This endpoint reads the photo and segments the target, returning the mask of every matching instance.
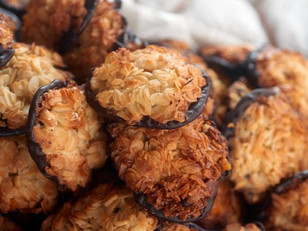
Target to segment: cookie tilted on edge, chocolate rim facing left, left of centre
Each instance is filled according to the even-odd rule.
[[[56,80],[33,98],[26,128],[30,155],[61,188],[85,187],[92,169],[107,159],[101,123],[82,87]]]

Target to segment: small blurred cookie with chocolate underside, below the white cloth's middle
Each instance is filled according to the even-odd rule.
[[[245,74],[246,56],[253,49],[252,45],[215,45],[201,48],[200,54],[211,68],[222,69],[231,79],[237,80]]]

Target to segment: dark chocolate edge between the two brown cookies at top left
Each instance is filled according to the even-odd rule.
[[[60,54],[64,54],[70,47],[73,45],[74,42],[78,39],[78,36],[84,31],[86,26],[91,21],[91,18],[95,12],[99,4],[99,0],[86,0],[85,1],[85,8],[87,9],[87,15],[85,16],[78,32],[73,32],[71,29],[64,33],[60,38],[59,44],[57,45],[57,51]]]

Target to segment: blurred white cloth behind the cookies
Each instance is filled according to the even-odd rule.
[[[123,0],[128,27],[149,41],[182,40],[193,48],[264,44],[308,57],[307,0]]]

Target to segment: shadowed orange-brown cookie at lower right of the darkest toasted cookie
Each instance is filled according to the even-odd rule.
[[[241,221],[242,203],[229,180],[223,180],[209,214],[198,224],[207,229],[220,229],[227,224]]]

